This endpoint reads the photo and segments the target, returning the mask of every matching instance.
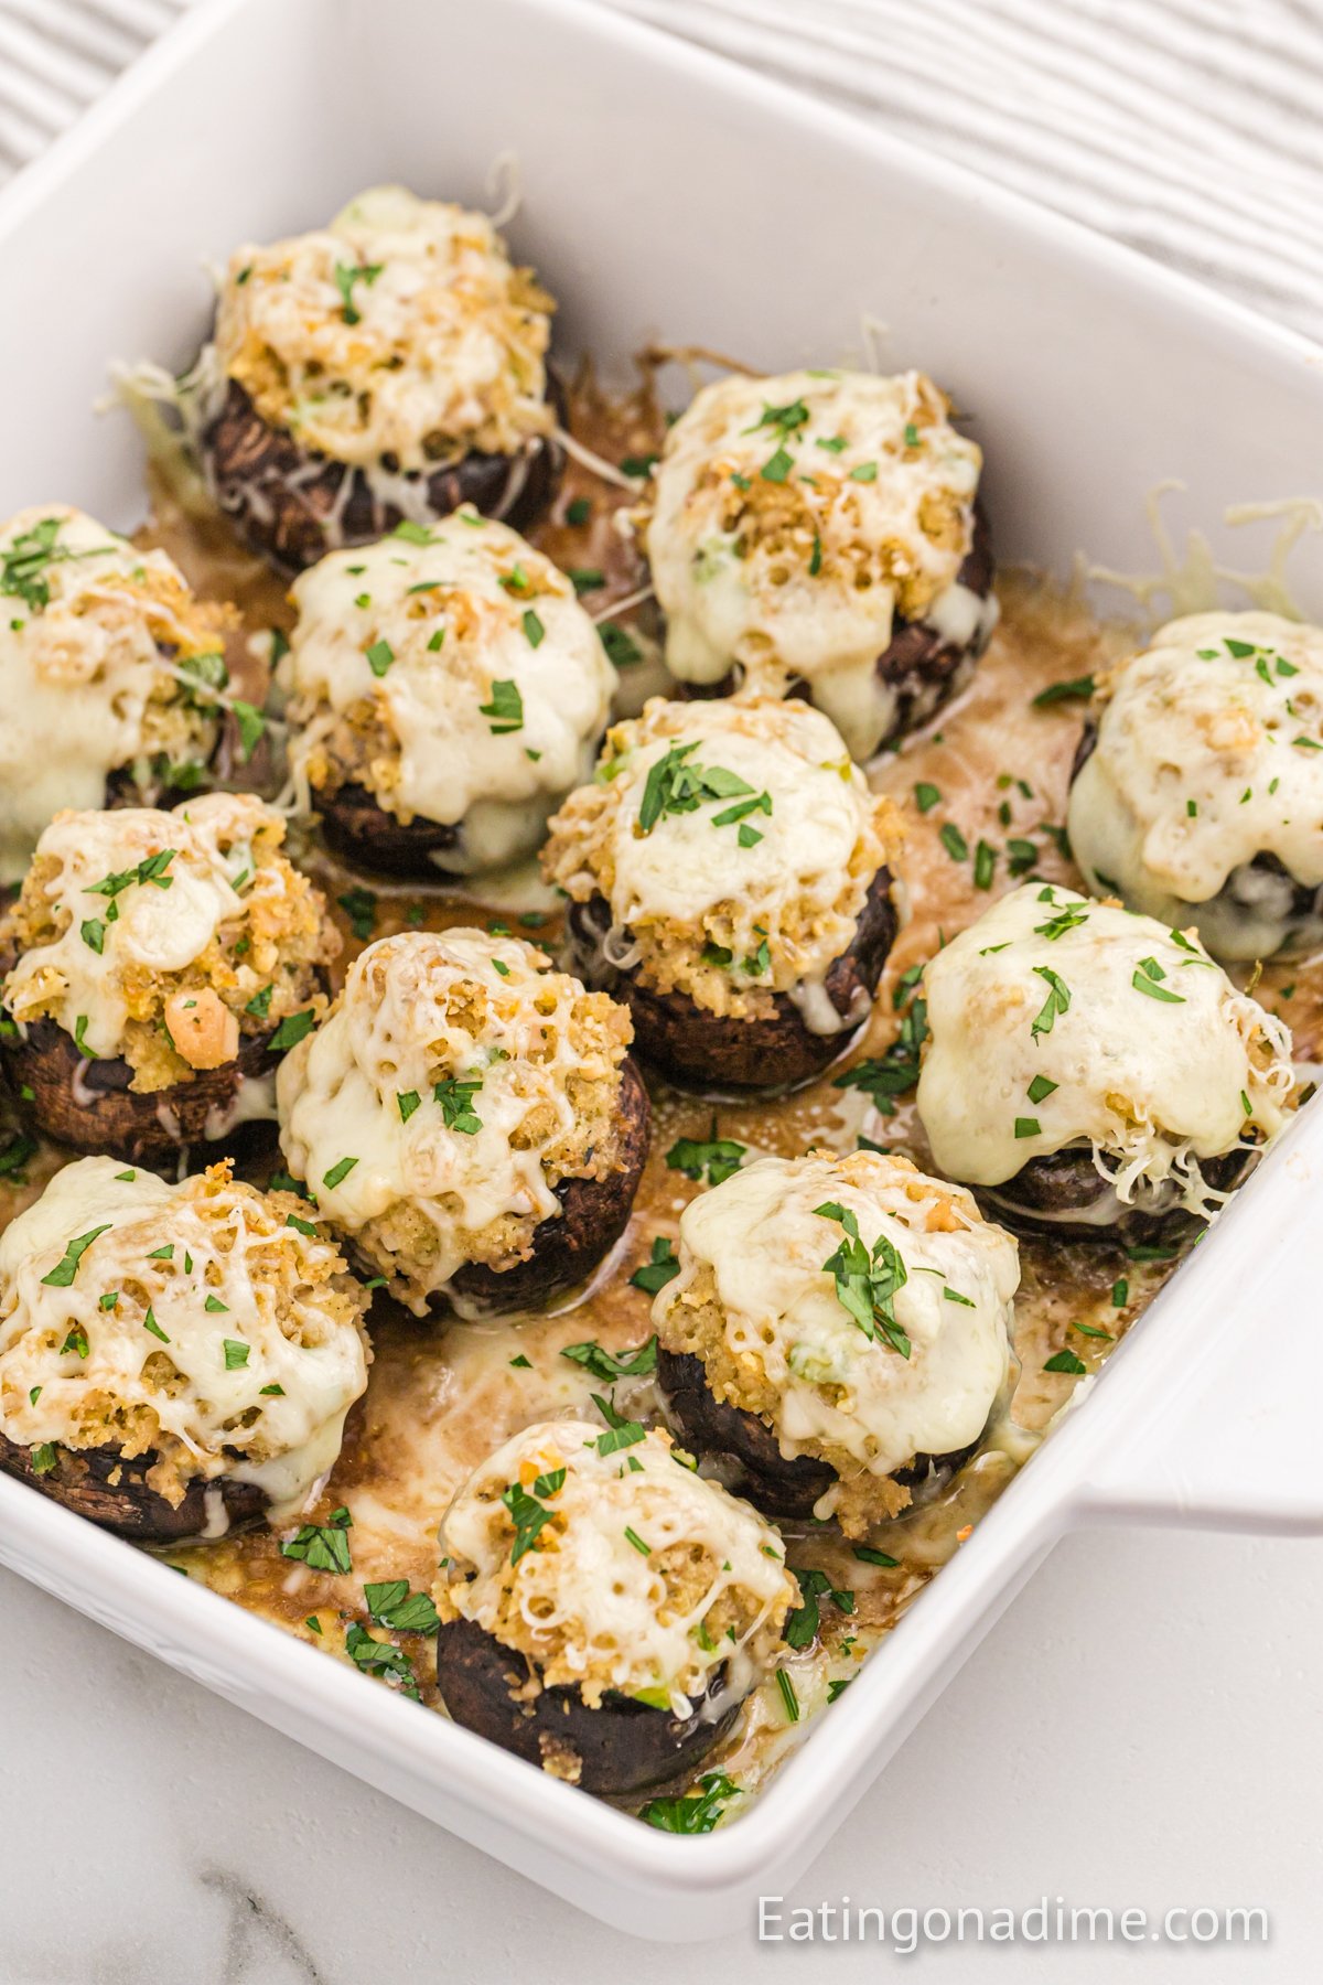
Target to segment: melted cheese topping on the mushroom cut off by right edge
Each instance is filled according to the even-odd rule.
[[[1192,921],[1218,957],[1317,945],[1285,877],[1238,871],[1269,854],[1323,883],[1323,629],[1192,613],[1111,669],[1099,705],[1067,816],[1089,885]]]

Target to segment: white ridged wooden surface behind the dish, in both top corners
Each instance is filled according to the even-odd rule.
[[[0,179],[188,4],[0,0]],[[605,4],[815,89],[1323,339],[1323,0]]]

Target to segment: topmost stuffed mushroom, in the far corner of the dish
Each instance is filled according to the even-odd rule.
[[[534,522],[563,468],[551,310],[486,214],[403,187],[236,248],[180,389],[216,502],[286,570],[460,502]]]

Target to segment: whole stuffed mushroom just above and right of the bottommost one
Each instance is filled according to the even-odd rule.
[[[904,1157],[764,1157],[680,1215],[657,1380],[684,1447],[774,1517],[847,1536],[978,1445],[1010,1368],[1018,1249]]]

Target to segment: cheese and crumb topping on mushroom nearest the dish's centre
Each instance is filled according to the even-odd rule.
[[[649,780],[657,786],[676,750],[714,796],[666,808],[643,832]],[[647,981],[716,1012],[738,1010],[746,989],[789,992],[809,1028],[837,1032],[859,1014],[841,1016],[823,979],[897,848],[895,810],[807,703],[659,699],[611,730],[595,784],[553,822],[543,863],[577,901],[609,903],[607,951],[633,955]],[[728,963],[714,965],[712,947]]]

